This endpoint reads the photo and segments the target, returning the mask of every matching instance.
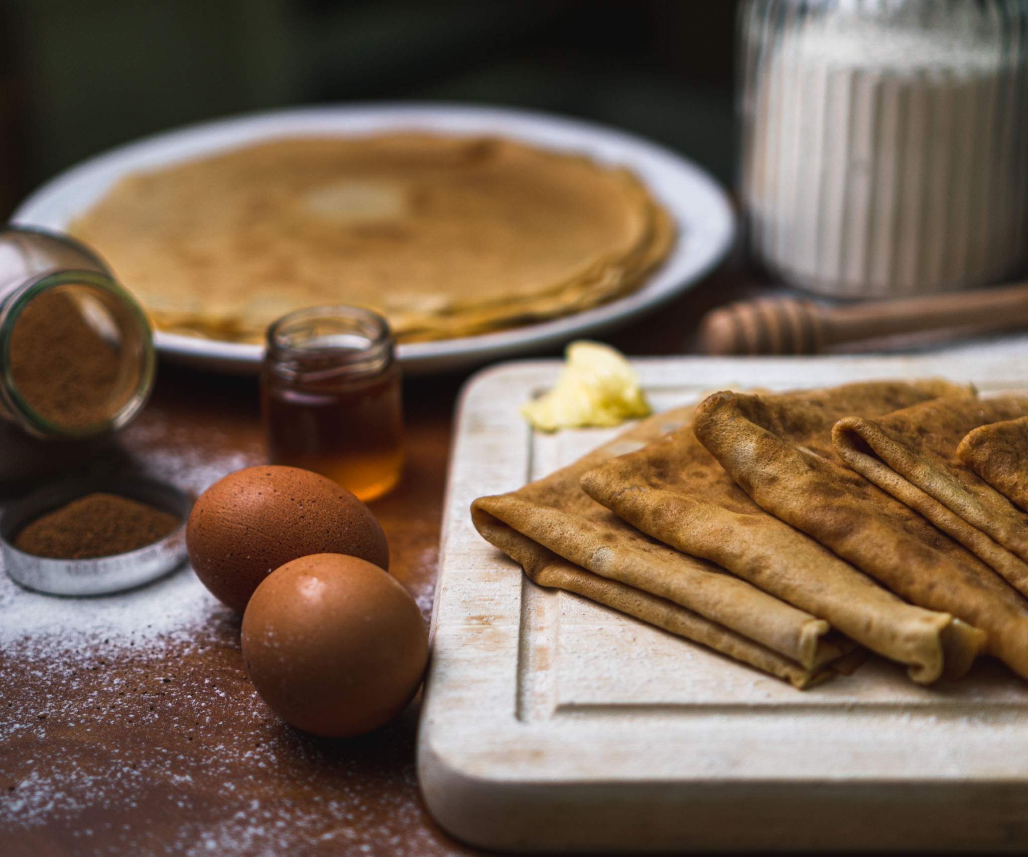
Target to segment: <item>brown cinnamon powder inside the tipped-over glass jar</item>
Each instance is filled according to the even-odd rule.
[[[10,344],[10,372],[22,397],[43,419],[68,428],[104,423],[115,398],[121,357],[60,291],[34,298],[21,313]]]

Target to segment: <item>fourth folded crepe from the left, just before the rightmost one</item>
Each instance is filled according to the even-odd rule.
[[[1028,514],[957,456],[967,432],[1028,416],[1028,398],[923,402],[877,419],[836,424],[836,450],[850,467],[920,512],[1028,595]]]

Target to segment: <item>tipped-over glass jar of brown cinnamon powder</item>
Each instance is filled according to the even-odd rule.
[[[115,431],[143,407],[155,357],[146,315],[87,247],[0,229],[0,414],[47,440]]]

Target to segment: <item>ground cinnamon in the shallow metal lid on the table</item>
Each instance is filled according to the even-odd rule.
[[[148,503],[98,492],[36,519],[17,534],[14,546],[51,560],[91,560],[138,550],[181,524]]]

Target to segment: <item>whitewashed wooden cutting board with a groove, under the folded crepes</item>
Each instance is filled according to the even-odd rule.
[[[667,358],[656,408],[717,389],[942,376],[1028,394],[1028,359]],[[699,645],[528,581],[469,506],[617,430],[531,431],[518,405],[556,361],[469,382],[453,444],[418,739],[451,833],[540,850],[1028,847],[1028,685],[991,659],[931,688],[872,658],[798,691]]]

